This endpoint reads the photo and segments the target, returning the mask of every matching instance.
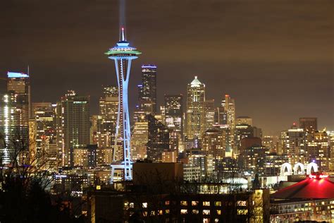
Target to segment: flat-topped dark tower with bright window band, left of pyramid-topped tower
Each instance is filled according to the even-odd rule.
[[[183,95],[165,95],[165,125],[183,135]]]

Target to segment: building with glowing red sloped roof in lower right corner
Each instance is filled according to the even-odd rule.
[[[307,179],[271,194],[271,222],[333,220],[334,182],[326,174],[310,174]]]

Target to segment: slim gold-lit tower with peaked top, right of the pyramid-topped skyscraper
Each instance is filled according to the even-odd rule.
[[[221,106],[224,108],[227,117],[226,125],[230,129],[230,148],[232,149],[233,156],[237,155],[237,147],[235,146],[235,100],[230,95],[225,95],[224,100],[221,102]]]

